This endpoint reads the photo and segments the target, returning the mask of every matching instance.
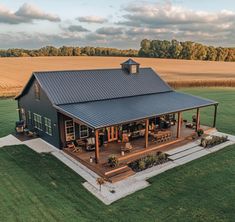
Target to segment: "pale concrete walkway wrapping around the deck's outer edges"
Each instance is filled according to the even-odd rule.
[[[218,136],[227,135],[220,132],[212,132],[211,134]],[[83,186],[88,191],[90,191],[93,195],[100,199],[104,204],[109,205],[119,200],[120,198],[123,198],[129,194],[150,186],[147,179],[153,176],[156,176],[179,165],[188,163],[192,160],[198,159],[202,156],[208,155],[212,152],[216,152],[229,145],[235,144],[235,136],[227,136],[229,138],[228,142],[222,143],[210,149],[203,149],[199,146],[200,141],[195,141],[176,149],[170,150],[167,152],[167,154],[172,157],[173,161],[169,161],[165,164],[154,166],[152,168],[138,172],[133,176],[130,176],[127,179],[114,184],[106,182],[104,185],[102,185],[101,191],[99,190],[99,185],[96,183],[96,179],[99,177],[96,173],[64,153],[62,150],[55,148],[54,146],[48,144],[40,138],[21,142],[14,136],[8,135],[6,137],[0,138],[0,147],[25,144],[35,152],[51,153],[53,156],[55,156],[57,159],[59,159],[61,162],[63,162],[65,165],[79,174],[86,181],[83,183]]]

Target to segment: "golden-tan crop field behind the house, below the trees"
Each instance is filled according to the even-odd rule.
[[[0,58],[0,96],[14,96],[33,71],[116,68],[123,57]],[[174,87],[235,86],[235,63],[136,58]]]

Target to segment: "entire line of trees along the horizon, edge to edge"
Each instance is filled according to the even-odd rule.
[[[206,46],[191,41],[148,40],[140,43],[140,49],[117,49],[106,47],[46,46],[40,49],[0,50],[0,57],[23,56],[128,56],[208,61],[235,61],[235,48]]]

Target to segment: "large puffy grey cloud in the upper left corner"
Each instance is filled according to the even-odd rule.
[[[46,13],[40,8],[25,3],[16,12],[10,11],[4,6],[0,6],[0,23],[20,24],[31,23],[33,20],[47,20],[59,22],[60,18],[56,15]]]

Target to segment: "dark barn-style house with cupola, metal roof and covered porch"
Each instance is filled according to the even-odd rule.
[[[173,90],[128,59],[116,69],[34,72],[16,97],[24,130],[64,149],[98,174],[116,155],[122,166],[177,146],[200,128],[200,109],[218,103]],[[194,110],[192,119],[182,113]]]

